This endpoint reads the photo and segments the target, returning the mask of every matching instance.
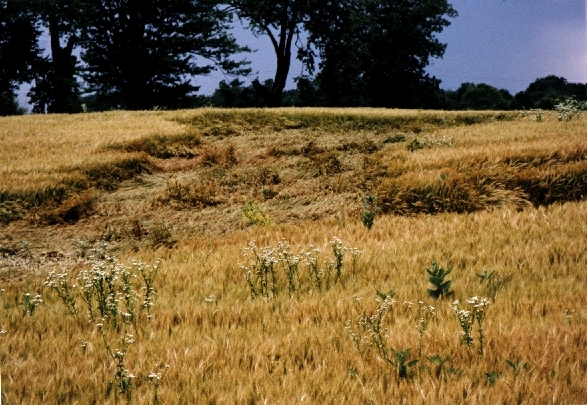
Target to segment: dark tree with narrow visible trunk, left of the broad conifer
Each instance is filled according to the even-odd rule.
[[[73,54],[86,24],[87,4],[83,0],[36,0],[38,16],[48,30],[51,57],[35,69],[35,86],[29,96],[38,113],[82,111],[78,59]]]

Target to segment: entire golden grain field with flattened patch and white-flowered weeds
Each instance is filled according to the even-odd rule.
[[[586,159],[549,114],[1,118],[2,404],[585,402]]]

